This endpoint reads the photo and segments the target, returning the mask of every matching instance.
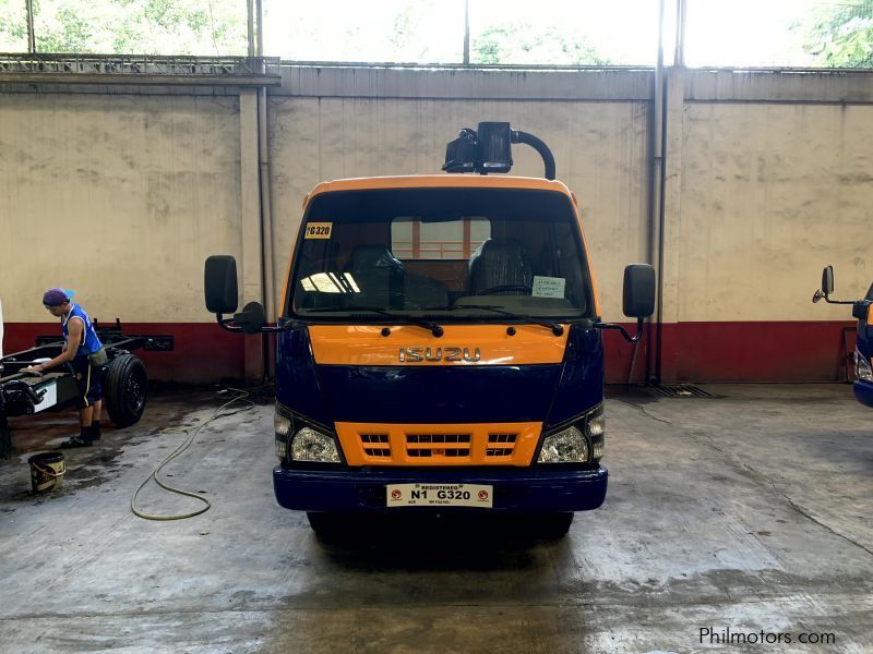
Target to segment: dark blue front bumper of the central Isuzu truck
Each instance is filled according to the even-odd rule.
[[[494,488],[493,508],[452,508],[453,511],[587,511],[603,504],[609,473],[598,470],[372,471],[273,469],[273,489],[279,506],[299,511],[387,511],[387,484],[487,484]],[[446,507],[392,511],[444,512]]]

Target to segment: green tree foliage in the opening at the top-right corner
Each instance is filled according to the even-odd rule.
[[[804,32],[803,49],[827,68],[873,68],[873,0],[816,7],[792,26]]]

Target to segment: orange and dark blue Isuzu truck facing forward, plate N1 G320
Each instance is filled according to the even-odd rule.
[[[515,143],[543,178],[505,174]],[[275,324],[256,302],[235,313],[228,255],[206,261],[206,307],[224,329],[276,334],[275,496],[316,532],[478,511],[559,537],[603,502],[602,331],[639,339],[655,270],[624,271],[636,334],[605,323],[576,198],[533,134],[462,130],[443,170],[319,184]]]

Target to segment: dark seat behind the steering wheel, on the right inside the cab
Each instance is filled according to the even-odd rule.
[[[481,295],[489,289],[534,286],[534,266],[518,239],[488,239],[473,253],[469,261],[470,295]],[[530,291],[527,291],[528,293]],[[494,295],[523,295],[522,288],[506,288]]]

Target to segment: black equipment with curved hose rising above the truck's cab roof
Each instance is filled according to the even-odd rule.
[[[525,143],[537,150],[546,166],[545,178],[554,179],[554,157],[542,141],[510,128],[506,122],[481,122],[478,130],[464,128],[445,147],[446,172],[510,172],[512,143]]]

